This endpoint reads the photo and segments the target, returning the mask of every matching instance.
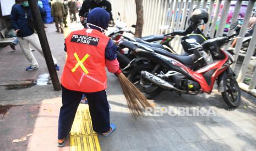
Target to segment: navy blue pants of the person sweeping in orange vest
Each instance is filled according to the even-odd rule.
[[[59,112],[58,125],[59,140],[65,138],[71,131],[75,113],[77,113],[77,108],[83,94],[86,95],[88,100],[94,131],[102,133],[110,130],[110,111],[105,90],[85,93],[68,90],[62,86],[62,107]]]

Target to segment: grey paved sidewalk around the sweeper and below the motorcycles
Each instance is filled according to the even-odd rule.
[[[52,54],[58,60],[61,76],[64,66],[64,36],[55,32],[55,25],[46,26]],[[69,25],[70,30],[78,24]],[[15,52],[9,47],[0,50],[0,104],[19,106],[0,107],[0,150],[70,150],[70,144],[57,147],[58,114],[61,91],[54,91],[51,84],[27,85],[40,74],[48,73],[43,57],[34,52],[40,68],[25,71],[29,65],[20,48]],[[12,90],[8,84],[25,83],[24,89]],[[242,92],[242,103],[234,111],[225,110],[221,95],[178,96],[163,92],[154,98],[156,106],[184,107],[192,112],[200,108],[211,109],[210,116],[176,116],[164,114],[156,117],[133,119],[129,113],[122,89],[115,75],[108,73],[108,101],[111,105],[111,123],[117,130],[108,137],[98,135],[102,150],[256,150],[256,99]],[[8,110],[7,110],[8,109]],[[32,133],[26,141],[13,140]]]

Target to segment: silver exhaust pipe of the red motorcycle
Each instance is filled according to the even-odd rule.
[[[160,86],[161,88],[163,88],[165,90],[176,90],[176,91],[180,91],[180,92],[187,92],[187,91],[179,90],[179,89],[175,88],[172,84],[166,82],[166,80],[159,78],[156,75],[151,74],[146,71],[141,71],[141,77],[157,86]]]

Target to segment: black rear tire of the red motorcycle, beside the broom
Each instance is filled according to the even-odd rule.
[[[138,65],[137,67],[133,68],[129,74],[128,74],[128,79],[130,80],[130,82],[132,82],[133,84],[135,82],[138,82],[138,78],[140,78],[140,73],[141,71],[148,71],[148,72],[151,72],[152,70],[154,69],[154,66],[153,65],[150,65],[150,64],[141,64],[141,65]],[[141,79],[141,78],[140,78]],[[142,86],[140,84],[140,82],[138,82],[138,85]],[[135,84],[135,86],[141,91],[141,89],[139,88],[137,84]],[[142,86],[143,87],[143,86]],[[143,92],[141,91],[145,96],[146,98],[152,98],[152,97],[156,97],[157,95],[159,95],[163,89],[160,88],[159,86],[155,86],[156,89],[152,92]],[[144,90],[144,87],[143,87],[143,90]]]

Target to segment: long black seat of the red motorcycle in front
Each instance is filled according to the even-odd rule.
[[[162,50],[159,48],[151,48],[151,49],[154,50],[155,53],[157,53],[157,54],[162,54],[162,55],[171,57],[173,59],[176,59],[177,61],[183,63],[184,65],[186,65],[188,67],[192,67],[194,65],[194,61],[191,59],[191,57],[189,57],[187,55],[173,54],[173,53],[169,53],[166,50]]]

